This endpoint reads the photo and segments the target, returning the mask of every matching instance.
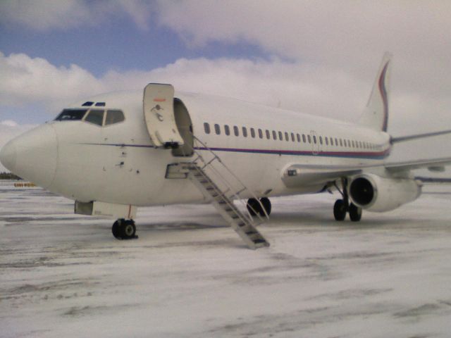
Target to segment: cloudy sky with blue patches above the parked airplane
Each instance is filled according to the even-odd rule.
[[[0,146],[149,82],[353,121],[385,51],[390,134],[451,129],[450,17],[445,0],[1,0]],[[393,154],[450,156],[450,140]]]

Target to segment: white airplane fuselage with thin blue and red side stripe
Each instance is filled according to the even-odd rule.
[[[326,181],[287,187],[281,178],[290,165],[304,165],[306,172],[320,166],[329,170],[359,168],[380,163],[390,152],[388,134],[359,125],[216,96],[177,93],[175,97],[189,112],[194,137],[218,154],[259,196],[323,189]],[[18,175],[83,202],[154,206],[204,201],[190,180],[165,179],[168,164],[192,161],[196,155],[173,156],[171,149],[154,146],[144,122],[142,92],[106,94],[92,101],[106,102],[105,109],[121,109],[125,120],[104,127],[82,120],[52,121],[37,127],[23,140],[16,139],[14,164],[25,168]],[[209,125],[209,134],[204,123]],[[39,141],[44,134],[45,141]],[[42,144],[32,142],[33,137]],[[194,142],[194,149],[201,154],[209,152],[199,142]],[[20,161],[23,163],[18,165]]]

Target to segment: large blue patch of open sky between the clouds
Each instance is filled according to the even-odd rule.
[[[35,31],[6,25],[1,30],[1,51],[45,58],[56,66],[76,63],[96,76],[108,70],[152,70],[179,58],[268,58],[259,46],[241,41],[209,42],[188,46],[180,35],[152,20],[146,30],[129,18],[117,16],[97,26],[70,30]]]

